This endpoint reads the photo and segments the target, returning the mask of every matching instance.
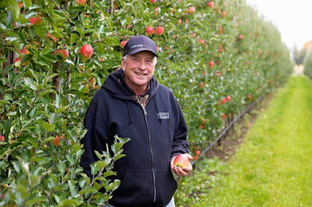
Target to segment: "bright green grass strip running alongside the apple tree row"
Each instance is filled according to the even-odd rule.
[[[291,77],[228,162],[198,165],[182,179],[177,207],[312,207],[311,80]]]

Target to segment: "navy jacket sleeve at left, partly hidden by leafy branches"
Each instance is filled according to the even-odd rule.
[[[94,152],[99,151],[102,154],[102,150],[105,150],[104,138],[106,138],[106,129],[103,127],[99,128],[98,126],[105,126],[103,119],[97,118],[99,114],[97,100],[95,98],[89,104],[85,119],[84,119],[84,128],[87,130],[87,133],[84,138],[81,139],[81,143],[84,145],[85,152],[81,156],[80,166],[84,168],[84,173],[86,173],[90,178],[92,178],[90,164],[96,162],[98,157]]]

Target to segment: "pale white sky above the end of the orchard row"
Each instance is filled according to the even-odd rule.
[[[279,29],[282,41],[301,49],[312,39],[312,0],[246,0]]]

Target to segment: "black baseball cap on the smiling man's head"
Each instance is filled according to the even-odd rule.
[[[158,57],[156,54],[156,44],[152,39],[144,35],[132,36],[123,47],[122,57],[127,54],[134,55],[143,50],[151,51]]]

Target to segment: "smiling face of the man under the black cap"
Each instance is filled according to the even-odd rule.
[[[121,68],[131,88],[147,85],[155,70],[154,54],[149,51],[141,51],[134,55],[128,54],[126,60],[121,59]]]

